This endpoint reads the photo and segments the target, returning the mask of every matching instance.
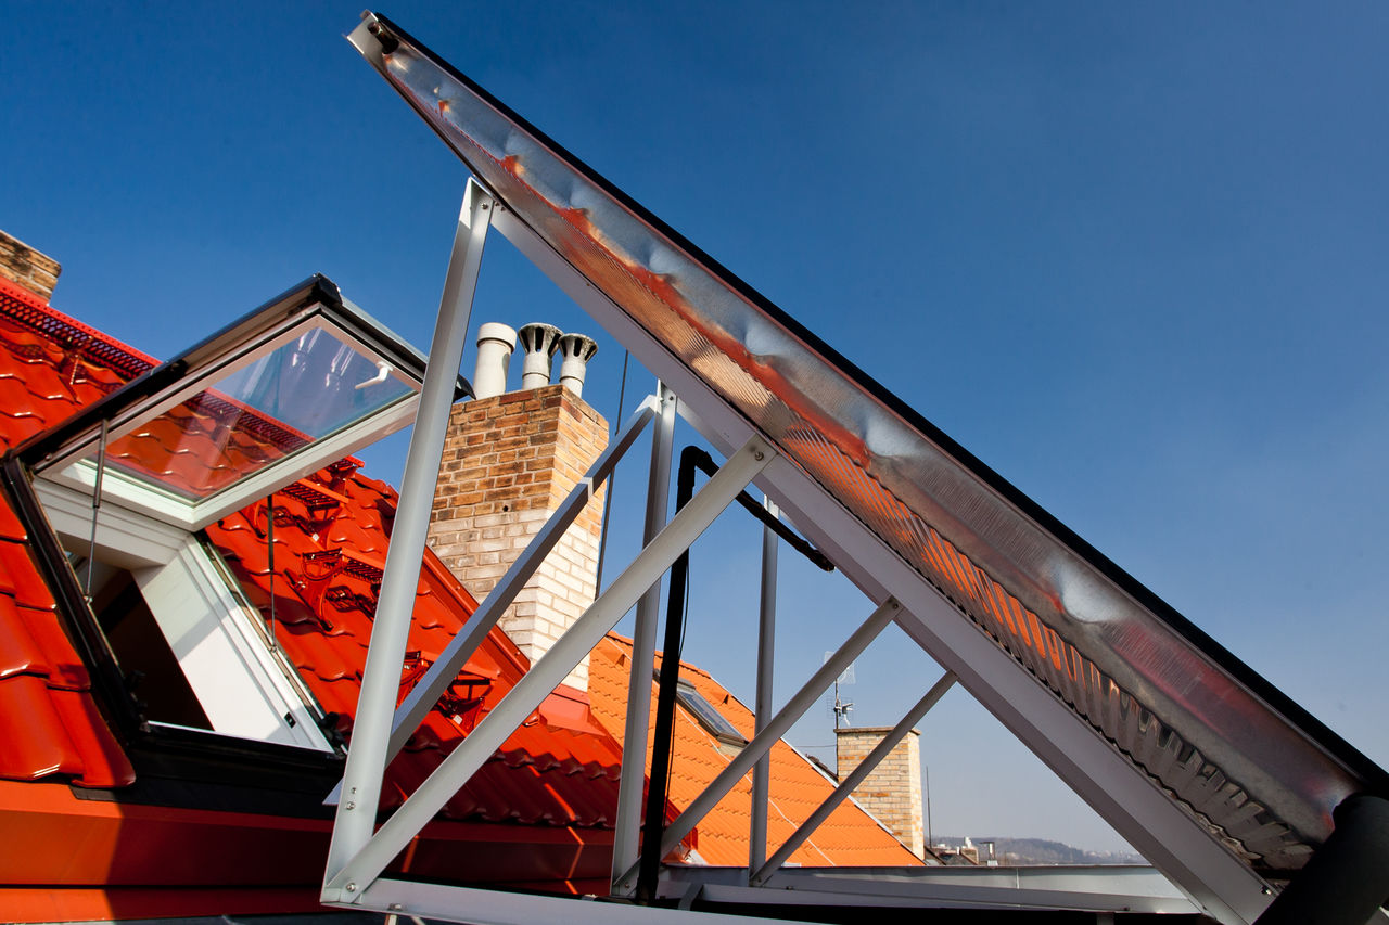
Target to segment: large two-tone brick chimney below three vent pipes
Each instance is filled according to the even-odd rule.
[[[603,415],[561,383],[454,406],[429,546],[482,600],[607,442]],[[593,603],[601,525],[599,492],[501,617],[532,664]],[[588,679],[585,658],[565,683],[588,690]]]

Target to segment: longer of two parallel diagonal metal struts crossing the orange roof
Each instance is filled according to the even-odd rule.
[[[721,469],[722,471],[722,469]],[[707,486],[706,486],[707,490]],[[800,715],[806,712],[810,704],[825,692],[829,683],[838,678],[845,668],[849,667],[854,658],[857,658],[864,649],[868,647],[878,633],[882,632],[883,626],[890,624],[899,617],[901,606],[893,600],[888,599],[883,601],[878,610],[875,610],[863,625],[845,640],[845,644],[831,656],[820,671],[810,676],[800,690],[792,694],[792,699],[786,701],[786,706],[772,717],[767,724],[767,728],[753,736],[738,756],[728,762],[718,776],[715,776],[704,792],[694,797],[685,811],[681,812],[674,822],[665,828],[665,835],[661,838],[661,857],[665,857],[676,847],[679,847],[681,839],[690,833],[700,819],[713,810],[720,800],[722,800],[733,785],[747,774],[753,762],[760,757],[767,754],[774,744],[776,744],[783,735],[786,735],[792,725]],[[631,869],[626,876],[635,876],[636,871]],[[624,878],[626,879],[626,878]]]

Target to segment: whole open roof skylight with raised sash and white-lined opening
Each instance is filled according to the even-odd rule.
[[[56,540],[50,583],[89,611],[81,632],[142,729],[333,750],[203,529],[279,490],[321,503],[286,486],[408,425],[424,368],[314,276],[15,449]]]

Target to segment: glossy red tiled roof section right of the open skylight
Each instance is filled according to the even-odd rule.
[[[343,460],[275,494],[275,631],[318,703],[350,733],[376,607],[396,493]],[[232,571],[269,618],[265,503],[208,528]],[[476,601],[426,550],[406,650],[401,696],[458,632]],[[525,674],[526,660],[494,629],[468,661],[440,708],[406,744],[386,775],[390,808],[463,740]],[[619,746],[578,700],[551,694],[492,761],[454,796],[456,819],[613,828]]]

